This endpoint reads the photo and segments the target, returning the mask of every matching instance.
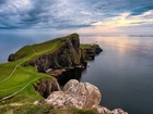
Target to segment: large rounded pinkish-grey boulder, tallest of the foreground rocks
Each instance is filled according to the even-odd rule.
[[[74,94],[83,99],[82,107],[93,107],[101,102],[101,92],[97,87],[89,83],[79,83],[78,80],[70,80],[63,87],[63,92],[67,94]]]

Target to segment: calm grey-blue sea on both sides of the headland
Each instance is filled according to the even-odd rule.
[[[56,37],[59,35],[0,34],[0,63],[25,45]],[[153,37],[81,36],[81,42],[98,43],[104,50],[80,78],[99,88],[101,104],[129,114],[153,114]]]

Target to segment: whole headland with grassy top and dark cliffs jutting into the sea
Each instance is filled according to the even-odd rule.
[[[44,51],[46,50],[46,45],[47,48],[49,45],[51,48],[52,45],[56,43],[57,46],[54,50]],[[39,47],[43,47],[44,49],[40,49]],[[22,50],[27,51],[22,52]],[[95,54],[103,50],[97,45],[80,45],[79,35],[72,34],[47,42],[23,47],[16,53],[11,54],[8,60],[15,61],[25,58],[25,55],[31,54],[32,51],[38,54],[25,62],[24,65],[32,65],[36,67],[38,72],[45,73],[49,68],[61,69],[84,65],[85,60],[94,58]]]

